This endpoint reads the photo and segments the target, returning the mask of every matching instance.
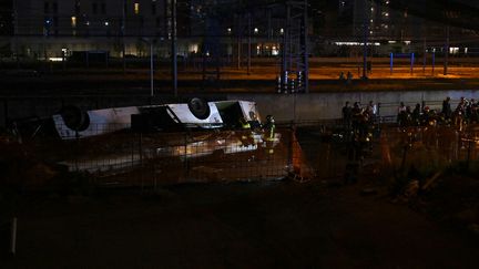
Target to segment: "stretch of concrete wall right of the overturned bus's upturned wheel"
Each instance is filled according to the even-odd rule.
[[[396,115],[399,102],[411,108],[416,103],[426,102],[430,108],[441,108],[442,100],[451,97],[451,107],[456,107],[461,96],[479,99],[478,90],[468,91],[428,91],[428,92],[347,92],[347,93],[312,93],[312,94],[230,94],[230,100],[255,101],[262,116],[275,116],[276,121],[317,121],[342,117],[342,107],[346,101],[353,105],[369,101],[381,103],[380,115]]]

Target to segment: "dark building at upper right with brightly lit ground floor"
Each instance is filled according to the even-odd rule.
[[[361,54],[358,46],[366,41],[371,44],[373,54],[422,53],[425,48],[427,52],[444,53],[449,35],[450,53],[467,54],[479,45],[463,42],[473,40],[475,31],[461,27],[461,13],[467,7],[477,9],[478,6],[466,0],[455,0],[451,6],[431,0],[338,0],[333,11],[337,12],[337,21],[330,27],[337,28],[339,34],[332,35],[330,40],[342,48],[330,46],[330,50],[344,55],[350,54],[348,52]],[[448,24],[449,31],[446,31]]]

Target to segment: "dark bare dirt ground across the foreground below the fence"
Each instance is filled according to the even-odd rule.
[[[19,204],[1,268],[479,268],[478,237],[366,179],[41,195]]]

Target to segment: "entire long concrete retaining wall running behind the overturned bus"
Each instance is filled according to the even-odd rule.
[[[442,100],[450,96],[455,108],[461,96],[479,99],[479,90],[468,91],[409,91],[409,92],[345,92],[345,93],[312,93],[312,94],[227,94],[205,95],[206,100],[247,100],[255,101],[262,118],[274,115],[278,122],[317,121],[339,118],[346,101],[353,105],[360,102],[366,105],[370,100],[381,103],[380,115],[396,115],[399,102],[405,102],[412,108],[416,103],[426,102],[431,108],[440,108]],[[174,103],[172,96],[155,96],[153,104]],[[184,100],[187,100],[185,96]],[[69,96],[69,97],[8,97],[0,102],[0,126],[8,118],[44,117],[57,113],[63,104],[74,104],[84,110],[119,107],[130,105],[146,105],[147,96]]]

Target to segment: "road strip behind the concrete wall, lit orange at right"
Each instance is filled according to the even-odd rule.
[[[339,81],[339,73],[353,73],[350,83]],[[338,91],[432,91],[432,90],[471,90],[479,87],[479,68],[450,66],[449,74],[444,75],[436,69],[422,73],[417,69],[411,75],[408,68],[400,68],[390,74],[387,65],[379,65],[361,80],[361,72],[350,64],[312,68],[309,73],[310,92]],[[253,66],[248,75],[245,69],[223,68],[220,80],[203,80],[197,69],[185,69],[179,72],[179,94],[191,93],[275,93],[277,92],[277,66]],[[0,76],[0,95],[111,95],[134,94],[150,95],[150,71],[130,69],[123,74],[114,69],[53,70],[39,76]],[[171,74],[167,69],[155,71],[154,94],[173,94]]]

